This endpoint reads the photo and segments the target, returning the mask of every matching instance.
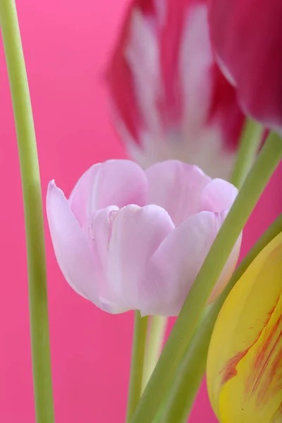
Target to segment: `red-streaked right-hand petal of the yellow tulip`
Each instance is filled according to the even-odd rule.
[[[282,295],[236,372],[220,393],[222,422],[271,422],[282,399]]]

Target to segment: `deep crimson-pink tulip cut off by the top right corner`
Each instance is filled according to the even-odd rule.
[[[282,1],[212,0],[216,56],[247,114],[282,129]]]

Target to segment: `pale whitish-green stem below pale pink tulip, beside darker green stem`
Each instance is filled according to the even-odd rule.
[[[161,348],[164,344],[168,319],[163,316],[152,316],[147,330],[144,369],[142,378],[142,392],[144,391],[154,368],[156,367]]]

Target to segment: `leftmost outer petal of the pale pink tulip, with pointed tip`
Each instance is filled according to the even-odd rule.
[[[52,181],[47,192],[47,217],[63,276],[82,297],[101,307],[99,302],[99,262],[87,235],[75,219],[63,192]]]

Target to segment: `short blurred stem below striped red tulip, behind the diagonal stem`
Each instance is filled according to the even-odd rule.
[[[255,161],[264,131],[265,129],[260,123],[247,119],[231,178],[231,182],[237,188],[241,188]]]

